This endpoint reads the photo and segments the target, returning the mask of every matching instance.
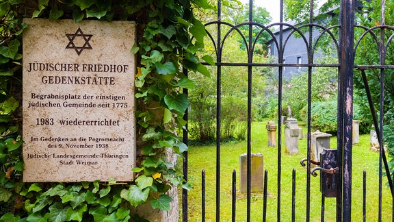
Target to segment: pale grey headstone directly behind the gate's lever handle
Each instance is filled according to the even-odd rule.
[[[320,162],[320,153],[323,149],[330,149],[331,136],[319,130],[311,134],[311,160]]]

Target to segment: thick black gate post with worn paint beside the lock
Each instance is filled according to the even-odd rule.
[[[342,217],[352,221],[352,121],[354,68],[354,4],[355,0],[341,0],[340,16],[340,71],[343,77],[343,149],[342,152]]]

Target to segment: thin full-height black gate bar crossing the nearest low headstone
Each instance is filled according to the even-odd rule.
[[[249,22],[253,21],[253,0],[249,0]],[[248,38],[248,63],[251,64],[253,61],[253,51],[252,51],[252,24],[249,25],[249,38]],[[251,155],[252,155],[252,145],[251,145],[251,128],[252,128],[252,66],[248,65],[248,151],[247,151],[247,167],[246,167],[246,221],[250,221],[250,199],[251,199]]]

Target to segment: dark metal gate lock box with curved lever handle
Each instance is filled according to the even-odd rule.
[[[320,191],[324,197],[337,197],[339,186],[338,150],[323,149],[320,153],[320,167],[311,169],[311,174],[316,177],[315,171],[320,173]]]

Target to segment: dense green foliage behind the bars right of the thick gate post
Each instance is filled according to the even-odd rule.
[[[363,1],[364,8],[366,13],[359,13],[359,24],[365,27],[376,27],[382,24],[382,1]],[[394,10],[394,2],[393,1],[385,1],[385,17],[384,23],[385,25],[393,26],[394,19],[391,14]],[[384,36],[382,36],[381,32],[384,32]],[[379,64],[393,64],[394,62],[394,53],[392,47],[390,47],[391,43],[388,43],[391,36],[394,34],[393,29],[391,28],[376,28],[373,29],[372,32],[367,33],[363,38],[360,38],[362,34],[366,32],[363,28],[355,29],[356,42],[359,40],[358,47],[356,48],[356,58],[355,63],[360,65],[379,65]],[[376,36],[376,37],[375,37]],[[386,49],[379,49],[378,45],[380,43],[380,39],[384,39],[383,45],[388,44],[389,47]],[[390,40],[391,41],[391,40]],[[380,51],[383,52],[387,50],[384,54],[384,61],[382,57],[380,57]],[[377,117],[379,118],[380,113],[380,79],[381,70],[380,69],[368,69],[365,70],[365,76],[367,78],[367,82],[369,85],[369,90],[371,92],[371,99],[373,101],[373,109],[375,110]],[[367,95],[365,93],[365,86],[363,84],[363,79],[361,75],[361,71],[354,72],[354,93],[360,99],[355,100],[356,103],[360,106],[360,112],[367,116],[365,118],[366,126],[369,128],[373,125],[373,121],[371,118],[371,110],[367,104]],[[389,165],[391,167],[391,171],[394,169],[394,143],[392,142],[393,138],[393,127],[394,124],[394,76],[392,69],[384,70],[384,107],[383,110],[383,122],[384,122],[384,133],[383,140],[384,146],[388,150],[389,153]],[[375,126],[378,129],[378,126]]]

